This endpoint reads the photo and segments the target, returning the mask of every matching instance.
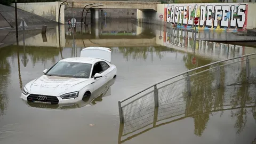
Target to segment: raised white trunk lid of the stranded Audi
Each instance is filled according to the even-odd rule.
[[[80,57],[97,58],[111,62],[111,49],[98,46],[85,47],[81,51]]]

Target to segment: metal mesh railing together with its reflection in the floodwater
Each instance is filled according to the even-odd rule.
[[[253,53],[191,69],[149,86],[118,101],[119,143],[131,138],[121,141],[121,137],[135,131],[140,131],[135,134],[138,135],[185,117],[255,106],[255,84],[256,53]]]

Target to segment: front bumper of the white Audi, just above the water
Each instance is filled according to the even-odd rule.
[[[32,96],[32,97],[31,97]],[[37,100],[37,95],[35,94],[28,94],[25,95],[23,93],[21,93],[21,99],[25,100],[25,101],[31,101],[31,102],[35,102],[35,103],[54,103],[54,104],[63,104],[63,103],[76,103],[78,102],[80,99],[79,97],[77,98],[71,98],[71,99],[62,99],[61,97],[54,97],[53,96],[46,96],[46,97],[51,97],[49,98],[49,101],[44,101],[44,100]],[[58,100],[57,100],[58,99]],[[58,102],[57,102],[58,101]]]

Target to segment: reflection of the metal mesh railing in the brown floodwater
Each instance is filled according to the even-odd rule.
[[[237,119],[234,127],[241,132],[243,128],[237,125],[242,125],[242,123],[246,125],[245,117],[250,117],[250,115],[256,113],[255,93],[255,86],[232,85],[224,89],[201,91],[197,97],[188,97],[183,100],[172,99],[166,105],[148,110],[147,113],[139,113],[140,109],[136,109],[135,111],[138,112],[136,116],[119,125],[118,143],[131,140],[156,127],[188,117],[193,118],[195,123],[194,129],[196,133],[193,134],[199,136],[207,129],[207,123],[211,119],[210,116],[218,114],[221,117],[225,110],[231,110],[230,116],[233,119]],[[202,99],[204,101],[200,101]],[[248,113],[242,112],[245,109]],[[222,112],[217,113],[217,111]],[[228,112],[226,111],[225,113]]]

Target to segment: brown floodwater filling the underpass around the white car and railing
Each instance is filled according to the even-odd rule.
[[[13,44],[0,49],[1,143],[256,141],[255,84],[250,85],[250,91],[241,88],[238,94],[226,93],[222,101],[216,96],[218,94],[209,94],[198,99],[194,97],[182,110],[165,108],[166,116],[162,113],[158,117],[165,119],[170,114],[173,117],[161,123],[151,123],[150,113],[147,116],[150,121],[146,118],[135,125],[131,121],[129,127],[129,123],[119,124],[118,112],[119,100],[149,85],[211,62],[255,53],[255,48],[205,41],[194,44],[191,39],[179,36],[183,32],[140,27],[131,22],[110,21],[106,25],[101,23],[98,28],[90,26],[83,30],[78,25],[74,31],[67,26],[61,26],[61,33],[58,27],[49,29],[45,36],[40,31],[34,36],[25,31],[24,45],[19,41],[19,46]],[[90,98],[71,105],[21,100],[21,91],[28,82],[42,76],[44,69],[63,58],[79,57],[80,51],[87,46],[111,49],[111,63],[117,67],[115,79]],[[238,91],[236,86],[227,89]],[[210,101],[214,101],[213,104]],[[209,103],[215,110],[209,109]],[[177,105],[183,107],[186,103]],[[236,108],[226,107],[233,105]],[[152,115],[154,119],[154,111]],[[147,124],[153,126],[144,127]]]

